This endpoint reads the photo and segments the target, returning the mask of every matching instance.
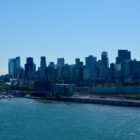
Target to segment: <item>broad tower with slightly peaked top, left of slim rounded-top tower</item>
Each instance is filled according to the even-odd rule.
[[[90,77],[96,77],[97,76],[97,58],[90,55],[85,58],[86,68],[90,71]]]

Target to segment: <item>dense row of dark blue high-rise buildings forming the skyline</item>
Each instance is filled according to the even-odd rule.
[[[65,63],[65,58],[57,58],[57,63],[46,64],[46,57],[40,57],[40,66],[34,62],[34,58],[26,58],[26,63],[21,67],[20,57],[9,59],[9,77],[19,80],[22,84],[32,84],[36,80],[42,81],[64,81],[64,83],[75,83],[76,85],[104,82],[139,82],[140,61],[132,59],[129,50],[118,50],[115,63],[109,63],[108,52],[101,53],[101,59],[89,55],[85,61],[75,59],[75,63]],[[86,85],[85,84],[85,85]],[[92,85],[92,84],[91,84]]]

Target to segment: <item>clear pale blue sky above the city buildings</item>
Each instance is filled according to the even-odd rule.
[[[118,49],[140,60],[140,0],[0,0],[0,74],[16,56],[39,66],[108,51],[114,62]]]

